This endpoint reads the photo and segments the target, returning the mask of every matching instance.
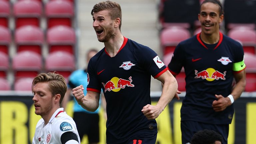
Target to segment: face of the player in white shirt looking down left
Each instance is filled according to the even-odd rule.
[[[55,111],[53,108],[58,103],[54,102],[56,95],[52,96],[52,93],[49,91],[48,82],[37,83],[33,87],[32,92],[34,94],[32,100],[34,101],[35,114],[40,115],[42,118],[52,116]]]

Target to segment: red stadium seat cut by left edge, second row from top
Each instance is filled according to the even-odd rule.
[[[9,54],[9,45],[11,43],[11,32],[8,28],[0,26],[0,52]]]

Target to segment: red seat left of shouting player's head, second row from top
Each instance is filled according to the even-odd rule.
[[[76,35],[73,28],[68,26],[55,26],[47,31],[49,52],[65,51],[75,54]]]

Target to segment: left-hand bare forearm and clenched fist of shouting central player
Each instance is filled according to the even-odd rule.
[[[83,85],[80,85],[73,89],[73,95],[76,101],[84,109],[94,112],[99,107],[100,93],[94,91],[87,91],[86,96],[84,96]]]

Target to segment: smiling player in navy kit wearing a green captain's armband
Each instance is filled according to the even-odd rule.
[[[220,133],[222,143],[227,144],[234,114],[232,103],[245,88],[243,47],[219,32],[223,17],[219,1],[205,0],[198,14],[202,32],[180,42],[168,65],[173,75],[182,67],[186,74],[186,96],[181,107],[183,144],[203,129]]]

